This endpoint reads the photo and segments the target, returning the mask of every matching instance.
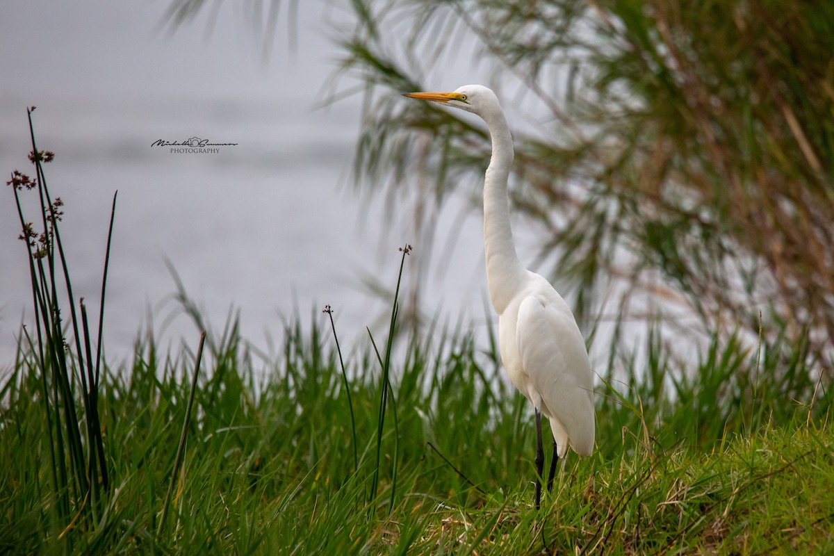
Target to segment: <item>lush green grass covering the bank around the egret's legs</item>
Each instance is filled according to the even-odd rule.
[[[646,422],[635,389],[623,388],[620,399],[602,386],[596,452],[567,458],[536,513],[528,404],[501,381],[495,358],[467,338],[438,333],[445,342],[411,341],[394,363],[396,427],[386,420],[373,496],[375,355],[348,363],[354,472],[332,338],[318,328],[286,332],[278,361],[254,359],[234,325],[214,343],[162,529],[193,355],[163,357],[144,338],[132,368],[103,374],[100,415],[115,488],[97,522],[70,528],[53,511],[39,371],[23,357],[3,388],[0,552],[517,554],[545,543],[558,553],[834,549],[827,410],[809,414],[791,400],[769,400],[793,416],[700,438],[681,424],[697,418],[686,404],[670,402]],[[711,400],[716,409],[725,402]],[[71,503],[78,511],[81,500]]]

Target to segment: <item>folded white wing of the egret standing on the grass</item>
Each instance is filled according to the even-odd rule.
[[[565,444],[580,455],[594,448],[590,362],[579,327],[553,292],[531,293],[519,306],[516,341],[524,372],[540,409],[550,418],[559,453]]]

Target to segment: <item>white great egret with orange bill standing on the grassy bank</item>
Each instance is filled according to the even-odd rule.
[[[541,414],[550,419],[553,433],[548,491],[553,487],[556,462],[568,446],[580,456],[594,449],[593,386],[585,340],[565,300],[545,278],[525,269],[515,253],[507,198],[513,140],[495,93],[481,85],[466,85],[453,93],[405,96],[475,113],[490,130],[492,157],[484,180],[486,278],[498,313],[501,359],[510,381],[535,408],[538,509],[545,463]]]

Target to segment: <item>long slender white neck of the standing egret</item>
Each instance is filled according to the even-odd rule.
[[[510,303],[526,276],[513,245],[507,179],[513,163],[513,139],[504,114],[483,116],[492,137],[492,158],[484,180],[484,248],[490,298],[499,315]]]

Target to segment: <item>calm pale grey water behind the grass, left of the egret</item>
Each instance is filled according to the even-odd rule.
[[[28,172],[27,103],[4,100],[0,167]],[[416,248],[409,278],[432,258],[421,281],[425,313],[484,320],[480,214],[453,202],[441,219],[438,245],[428,250],[408,231],[408,213],[385,224],[384,204],[359,198],[349,181],[356,133],[349,106],[324,113],[277,101],[87,102],[60,94],[39,102],[38,146],[56,153],[46,166],[48,185],[66,205],[61,229],[74,293],[88,308],[98,308],[109,209],[118,189],[104,336],[111,359],[129,356],[149,314],[163,343],[176,345],[183,337],[195,343],[197,329],[170,302],[175,283],[167,260],[213,328],[222,329],[229,309],[239,309],[244,337],[264,349],[267,338],[279,341],[283,318],[296,312],[305,321],[314,312],[323,318],[324,303],[335,308],[345,338],[364,335],[387,308],[367,293],[364,278],[393,288],[403,243]],[[239,145],[215,154],[151,146],[192,137]],[[31,323],[32,310],[11,189],[3,195],[0,357],[8,362],[19,324]],[[28,208],[34,220],[37,212]]]

